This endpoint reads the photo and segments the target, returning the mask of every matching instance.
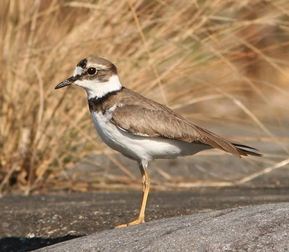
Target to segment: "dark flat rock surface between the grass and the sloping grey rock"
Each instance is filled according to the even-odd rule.
[[[288,192],[287,187],[210,187],[190,191],[152,191],[146,219],[154,221],[245,205],[289,202]],[[3,196],[0,198],[0,251],[32,251],[111,230],[137,217],[140,199],[140,190]]]

